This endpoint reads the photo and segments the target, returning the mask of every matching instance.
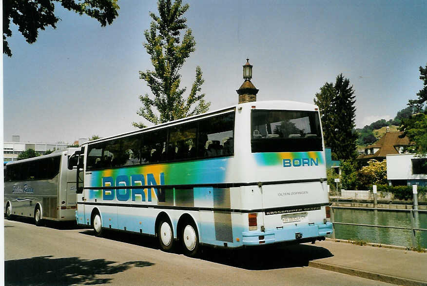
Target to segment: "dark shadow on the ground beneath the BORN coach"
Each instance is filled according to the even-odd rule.
[[[93,230],[79,233],[95,235]],[[159,249],[156,237],[104,229],[102,237],[123,243]],[[183,254],[179,241],[175,242],[175,253]],[[324,247],[297,245],[259,245],[248,248],[225,249],[200,245],[198,259],[247,270],[268,270],[308,266],[311,260],[332,257],[333,254]]]

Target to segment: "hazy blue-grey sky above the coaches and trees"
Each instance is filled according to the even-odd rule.
[[[394,118],[423,87],[427,1],[188,0],[196,50],[180,74],[188,90],[201,67],[211,110],[237,104],[246,58],[257,101],[313,102],[338,74],[356,96],[356,127]],[[143,47],[155,0],[119,0],[112,25],[57,5],[57,29],[28,44],[12,24],[3,55],[3,140],[68,142],[135,130],[152,70]],[[186,93],[188,96],[188,92]],[[147,122],[145,122],[147,123]]]

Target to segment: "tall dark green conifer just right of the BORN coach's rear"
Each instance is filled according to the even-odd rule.
[[[343,74],[336,77],[335,84],[326,82],[315,95],[314,103],[320,109],[325,145],[331,148],[332,160],[357,157],[355,102],[353,86]]]

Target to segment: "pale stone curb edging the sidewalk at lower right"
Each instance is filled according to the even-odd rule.
[[[407,279],[402,277],[396,277],[386,274],[380,274],[375,272],[369,272],[349,267],[343,267],[343,266],[336,266],[333,264],[328,264],[324,262],[318,262],[318,261],[310,261],[309,262],[310,267],[314,268],[320,268],[324,270],[330,270],[333,272],[339,272],[343,274],[348,274],[352,276],[367,278],[371,280],[376,281],[382,281],[386,283],[396,284],[396,285],[408,285],[408,286],[427,286],[427,282],[413,280],[413,279]]]

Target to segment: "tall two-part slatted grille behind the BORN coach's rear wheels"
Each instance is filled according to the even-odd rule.
[[[214,208],[230,209],[230,189],[214,189]],[[233,242],[233,225],[230,211],[214,211],[215,239]]]

